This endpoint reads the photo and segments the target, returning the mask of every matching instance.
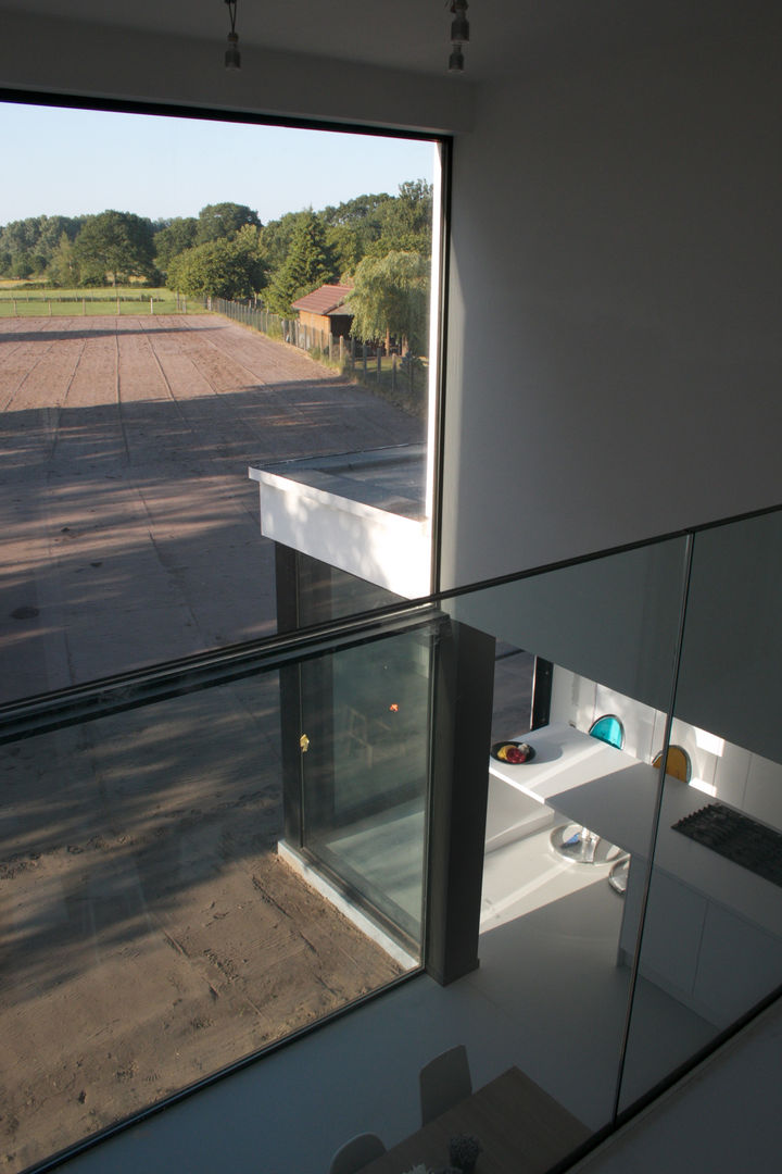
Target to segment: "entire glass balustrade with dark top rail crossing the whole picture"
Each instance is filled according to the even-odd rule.
[[[6,707],[7,1168],[422,970],[540,1174],[621,1122],[780,993],[781,576],[776,511]]]

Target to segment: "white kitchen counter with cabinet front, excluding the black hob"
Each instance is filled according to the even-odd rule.
[[[491,758],[491,775],[632,856],[619,943],[619,958],[628,962],[659,770],[570,726],[548,726],[523,741],[536,757],[518,765]],[[702,791],[666,776],[641,973],[722,1024],[782,981],[782,888],[673,830],[709,802]]]

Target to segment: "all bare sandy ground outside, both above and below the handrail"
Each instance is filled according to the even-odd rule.
[[[0,700],[273,630],[247,465],[421,424],[217,317],[0,322]],[[5,747],[19,1170],[387,981],[274,855],[276,677]]]

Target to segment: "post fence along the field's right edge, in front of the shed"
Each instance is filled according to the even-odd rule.
[[[298,318],[281,318],[252,301],[229,302],[225,298],[208,297],[204,305],[208,310],[222,313],[261,335],[307,351],[313,358],[339,367],[342,373],[380,391],[408,411],[423,414],[428,387],[426,359],[399,355],[393,348],[387,353],[382,343],[361,343],[355,338],[344,338],[341,335],[308,326]]]

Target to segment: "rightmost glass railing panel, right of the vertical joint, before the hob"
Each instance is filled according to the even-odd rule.
[[[781,576],[778,514],[695,537],[623,1107],[782,983]]]

